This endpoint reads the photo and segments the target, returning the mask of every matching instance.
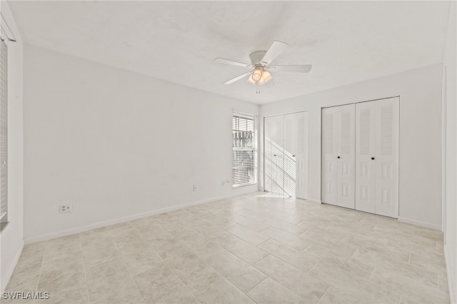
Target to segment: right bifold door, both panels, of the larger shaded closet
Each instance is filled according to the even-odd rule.
[[[356,104],[356,209],[398,217],[398,98]]]

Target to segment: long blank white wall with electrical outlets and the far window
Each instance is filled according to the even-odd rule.
[[[25,242],[257,191],[221,186],[231,181],[232,108],[258,114],[251,103],[25,45]],[[61,203],[73,212],[59,214]]]

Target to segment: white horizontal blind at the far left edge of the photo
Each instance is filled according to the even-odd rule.
[[[8,56],[0,43],[0,223],[8,221]],[[3,225],[1,225],[3,226]]]

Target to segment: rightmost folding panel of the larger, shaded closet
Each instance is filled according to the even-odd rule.
[[[376,214],[398,218],[398,97],[375,104]]]

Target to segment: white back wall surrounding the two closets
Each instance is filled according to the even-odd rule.
[[[441,229],[441,78],[436,64],[267,103],[261,118],[308,110],[308,199],[321,201],[321,108],[400,96],[399,216]]]

